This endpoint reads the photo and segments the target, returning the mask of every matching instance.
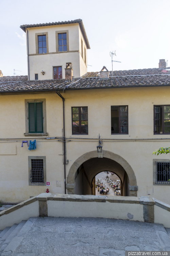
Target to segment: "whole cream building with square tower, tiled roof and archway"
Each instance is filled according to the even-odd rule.
[[[21,28],[29,76],[0,78],[0,200],[23,201],[47,188],[92,194],[95,176],[111,171],[121,195],[170,203],[169,157],[152,154],[170,141],[165,67],[112,74],[101,64],[87,72],[81,19]],[[30,140],[35,150],[22,147]]]

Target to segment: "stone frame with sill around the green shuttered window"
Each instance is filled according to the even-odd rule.
[[[28,103],[43,102],[43,133],[29,133],[29,114]],[[25,99],[25,118],[26,118],[26,132],[24,136],[48,136],[47,133],[47,117],[46,117],[46,99]]]

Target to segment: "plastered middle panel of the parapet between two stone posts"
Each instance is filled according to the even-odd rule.
[[[127,219],[127,214],[133,214],[133,220],[143,220],[143,205],[128,203],[106,203],[101,202],[65,202],[47,201],[48,216],[52,217],[93,217],[103,218],[103,208],[105,218]],[[114,210],[113,210],[114,207]]]

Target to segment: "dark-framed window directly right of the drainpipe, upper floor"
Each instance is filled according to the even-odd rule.
[[[72,134],[88,134],[87,107],[72,107]]]

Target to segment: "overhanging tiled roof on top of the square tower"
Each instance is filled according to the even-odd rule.
[[[30,25],[25,24],[25,25],[21,25],[20,28],[24,32],[26,32],[26,27],[27,28],[31,28],[31,27],[44,27],[44,26],[71,24],[71,23],[79,23],[81,31],[82,31],[82,34],[83,34],[83,37],[84,37],[84,40],[86,42],[87,49],[90,49],[90,45],[89,45],[89,42],[88,42],[88,38],[87,38],[87,35],[86,35],[86,31],[85,31],[82,19],[74,19],[73,21],[62,21],[62,22],[58,21],[58,22],[49,22],[49,23],[40,23],[40,24],[30,24]]]

